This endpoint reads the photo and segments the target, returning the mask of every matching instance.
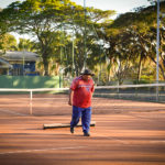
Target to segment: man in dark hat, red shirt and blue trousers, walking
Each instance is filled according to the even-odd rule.
[[[85,69],[79,77],[73,80],[68,101],[68,105],[73,106],[70,132],[74,133],[74,128],[78,124],[81,117],[85,136],[90,136],[91,98],[95,90],[91,76],[94,74],[89,69]]]

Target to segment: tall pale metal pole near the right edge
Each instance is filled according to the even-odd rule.
[[[156,37],[156,82],[158,84],[160,70],[160,0],[157,0],[157,37]],[[156,101],[158,101],[158,87],[156,87]]]

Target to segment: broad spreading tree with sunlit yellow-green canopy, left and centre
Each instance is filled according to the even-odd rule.
[[[69,43],[73,38],[69,32],[74,31],[76,37],[75,66],[78,66],[76,72],[79,73],[84,67],[85,52],[87,52],[89,67],[94,68],[90,63],[92,56],[94,58],[95,56],[99,57],[98,52],[92,54],[92,52],[96,53],[95,48],[98,47],[97,42],[99,41],[96,37],[94,25],[96,29],[101,29],[98,22],[114,13],[114,11],[101,11],[94,8],[86,10],[85,12],[84,7],[69,0],[26,0],[22,3],[11,3],[2,11],[2,15],[6,15],[2,20],[10,22],[8,29],[10,32],[15,31],[20,34],[26,33],[35,36],[43,58],[45,75],[48,75],[48,63],[52,58],[56,58],[56,62],[62,65],[62,50],[66,50],[66,46],[70,47]],[[63,34],[67,38],[64,43],[62,43]],[[63,62],[63,65],[67,65],[67,63]]]

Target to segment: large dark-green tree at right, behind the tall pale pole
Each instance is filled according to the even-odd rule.
[[[164,11],[165,2],[163,1],[161,2],[161,12]],[[163,64],[165,29],[163,22],[164,18],[161,19],[160,69],[163,79],[165,79],[165,67]],[[105,38],[110,45],[108,48],[109,58],[119,58],[118,54],[121,54],[124,51],[123,55],[120,56],[120,59],[123,59],[122,57],[124,57],[124,59],[129,59],[132,64],[139,61],[139,67],[136,69],[139,80],[141,77],[142,64],[144,64],[145,61],[151,61],[156,64],[156,4],[154,3],[146,8],[139,8],[134,12],[121,14],[112,23],[106,24],[105,26]],[[125,35],[127,37],[122,37],[122,35]]]

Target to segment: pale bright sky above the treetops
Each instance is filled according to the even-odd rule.
[[[0,8],[6,8],[11,2],[16,0],[0,0]],[[18,0],[23,1],[23,0]],[[147,0],[72,0],[77,4],[86,7],[94,7],[101,10],[116,10],[117,13],[124,13],[131,11],[133,8],[148,6]]]

